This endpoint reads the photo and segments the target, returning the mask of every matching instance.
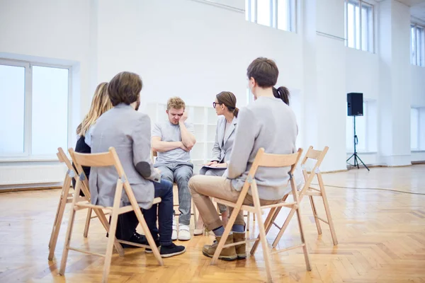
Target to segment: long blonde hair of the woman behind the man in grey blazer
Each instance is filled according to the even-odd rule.
[[[90,110],[84,117],[83,122],[77,127],[77,134],[82,137],[86,135],[87,130],[96,123],[98,117],[110,110],[113,106],[108,96],[108,83],[99,83],[91,100]]]

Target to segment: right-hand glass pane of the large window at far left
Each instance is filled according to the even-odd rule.
[[[68,69],[33,67],[32,154],[68,145]]]

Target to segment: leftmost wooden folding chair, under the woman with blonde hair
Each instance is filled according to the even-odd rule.
[[[72,167],[71,162],[69,162],[69,159],[67,158],[67,155],[64,153],[62,147],[57,149],[57,158],[61,163],[65,163],[65,165],[68,168],[67,173],[65,174],[64,178],[64,184],[62,185],[62,191],[60,193],[59,198],[59,204],[57,204],[57,210],[56,210],[56,216],[55,221],[53,221],[53,227],[52,227],[52,233],[50,234],[50,241],[49,241],[49,260],[53,260],[53,257],[55,256],[55,249],[56,249],[56,243],[57,243],[57,237],[59,236],[60,226],[62,224],[62,217],[64,216],[65,206],[68,203],[72,202],[72,199],[75,194],[75,190],[71,190],[71,182],[72,178],[74,178],[75,171],[74,167]],[[77,195],[78,201],[88,200],[87,197],[81,197]],[[90,219],[91,219],[91,209],[89,209],[89,212],[87,212],[87,218],[86,218],[86,226],[84,226],[84,238],[87,237],[87,234],[89,233],[89,225],[90,225]]]

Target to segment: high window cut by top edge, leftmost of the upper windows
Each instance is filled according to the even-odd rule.
[[[245,0],[246,21],[295,31],[295,0]]]

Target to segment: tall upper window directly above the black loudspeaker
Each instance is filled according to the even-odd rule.
[[[373,5],[361,0],[345,0],[346,46],[373,50]]]

